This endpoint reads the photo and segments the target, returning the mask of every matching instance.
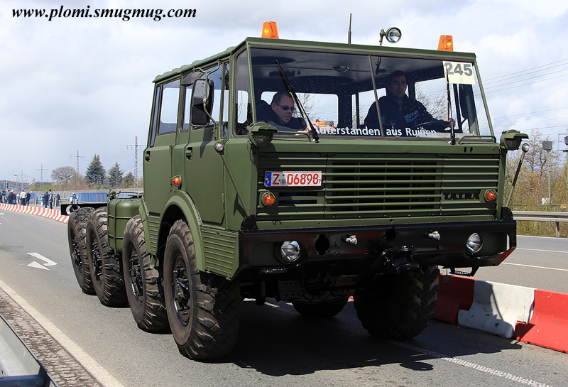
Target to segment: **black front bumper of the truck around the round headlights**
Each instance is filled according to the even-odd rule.
[[[466,249],[466,241],[474,233],[483,240],[483,246],[475,254]],[[278,246],[283,241],[297,241],[302,246],[302,254],[295,263],[278,259]],[[516,222],[241,231],[239,246],[241,265],[253,269],[304,267],[320,271],[326,266],[347,265],[357,268],[356,271],[381,271],[377,260],[384,259],[388,251],[403,251],[408,261],[420,266],[476,268],[497,266],[513,252]]]

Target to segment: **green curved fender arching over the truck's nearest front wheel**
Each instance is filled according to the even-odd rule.
[[[146,201],[142,200],[140,205],[140,214],[142,218],[142,224],[144,229],[144,239],[146,241],[150,240],[150,231],[148,227],[148,208],[146,207]],[[187,192],[178,191],[173,192],[173,195],[168,199],[168,202],[165,204],[165,208],[160,215],[160,224],[163,222],[168,222],[169,224],[173,224],[175,221],[179,219],[185,219],[187,222],[187,226],[190,228],[193,244],[195,249],[195,258],[197,263],[197,268],[200,271],[205,271],[205,261],[204,261],[204,251],[203,251],[203,239],[201,235],[201,217],[197,207],[195,206],[195,202],[193,202],[192,197],[187,195]],[[167,230],[160,227],[158,230],[158,240],[163,240],[168,238],[167,235],[163,235],[164,232]],[[152,251],[149,249],[150,244],[146,246],[148,252],[152,254],[152,256],[157,256],[158,251]],[[158,262],[155,262],[157,264]]]

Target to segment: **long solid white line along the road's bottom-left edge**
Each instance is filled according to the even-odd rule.
[[[38,312],[38,310],[35,309],[35,307],[31,306],[2,280],[0,280],[0,288],[2,288],[2,290],[4,290],[4,292],[12,298],[12,300],[16,301],[23,310],[26,310],[33,320],[37,321],[39,325],[41,325],[43,329],[51,335],[51,337],[57,340],[63,348],[67,349],[71,356],[75,357],[75,359],[77,359],[77,361],[79,361],[80,364],[82,364],[82,366],[84,366],[84,368],[87,369],[87,371],[89,371],[89,373],[94,376],[97,381],[99,381],[99,383],[105,387],[124,387],[122,383],[109,374],[109,372],[97,363],[97,361],[83,351],[81,347],[75,344],[75,342],[72,342],[72,340],[65,336],[58,327],[55,327],[50,320],[45,318],[40,312]]]

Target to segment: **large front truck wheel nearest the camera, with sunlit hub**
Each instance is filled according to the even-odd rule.
[[[239,331],[239,284],[197,269],[192,234],[175,222],[164,254],[164,292],[170,329],[183,356],[216,359],[231,351]]]

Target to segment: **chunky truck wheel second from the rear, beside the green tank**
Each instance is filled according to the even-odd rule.
[[[87,258],[95,293],[102,305],[116,307],[128,303],[121,257],[109,247],[107,238],[107,208],[89,215],[87,222]]]

